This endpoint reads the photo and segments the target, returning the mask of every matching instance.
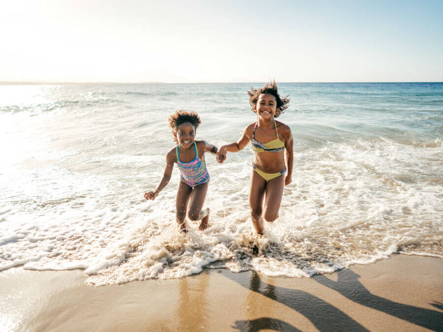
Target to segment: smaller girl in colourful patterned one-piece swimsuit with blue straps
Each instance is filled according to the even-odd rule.
[[[177,164],[181,181],[177,190],[176,218],[182,232],[188,232],[185,223],[187,210],[190,220],[201,220],[199,230],[205,230],[209,221],[209,208],[203,209],[209,185],[205,152],[216,154],[218,149],[205,141],[194,140],[199,124],[200,117],[195,112],[177,111],[169,117],[177,146],[166,154],[166,167],[157,188],[145,194],[146,199],[155,199],[171,179],[174,163]]]

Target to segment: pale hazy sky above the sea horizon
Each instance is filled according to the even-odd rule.
[[[0,81],[443,81],[443,1],[0,4]]]

